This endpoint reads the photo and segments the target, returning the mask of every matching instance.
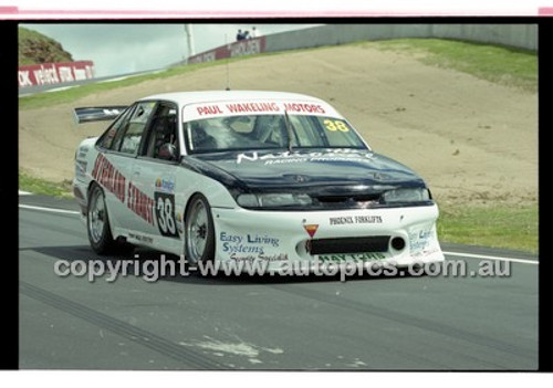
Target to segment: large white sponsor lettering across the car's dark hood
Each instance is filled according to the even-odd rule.
[[[355,149],[328,149],[319,153],[282,151],[276,154],[259,155],[258,151],[241,153],[237,164],[244,161],[263,161],[264,165],[307,162],[307,161],[357,161],[367,162],[373,158],[372,153],[358,153]]]

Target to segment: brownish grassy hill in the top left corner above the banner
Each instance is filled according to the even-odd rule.
[[[18,29],[19,65],[51,62],[73,62],[73,56],[62,45],[36,31]]]

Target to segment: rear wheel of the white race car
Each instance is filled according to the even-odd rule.
[[[109,227],[104,190],[96,183],[93,183],[88,191],[86,230],[91,248],[94,252],[97,254],[108,254],[115,250],[116,241],[113,239]]]

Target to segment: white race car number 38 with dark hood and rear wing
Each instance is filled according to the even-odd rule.
[[[444,261],[425,181],[374,153],[326,102],[279,92],[168,93],[81,143],[74,196],[92,249],[118,241],[207,261]]]

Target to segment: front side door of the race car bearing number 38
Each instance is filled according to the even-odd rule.
[[[175,199],[180,150],[177,106],[158,102],[133,165],[131,192],[145,196],[152,222],[134,223],[136,239],[169,251],[181,248],[181,211]]]

